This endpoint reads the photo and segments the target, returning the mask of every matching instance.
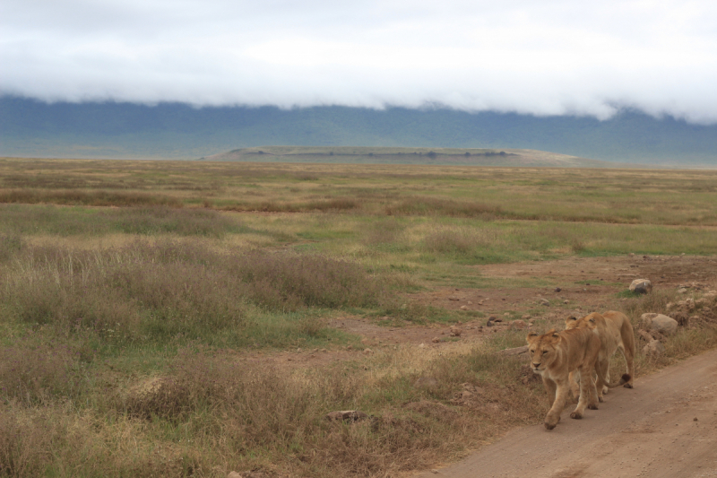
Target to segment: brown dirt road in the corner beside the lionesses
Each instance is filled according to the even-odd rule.
[[[513,430],[455,465],[420,478],[717,477],[717,351],[638,378],[600,410],[557,428]],[[418,478],[418,477],[417,477]]]

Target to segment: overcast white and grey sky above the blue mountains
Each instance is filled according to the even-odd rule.
[[[713,124],[717,2],[2,0],[0,93]]]

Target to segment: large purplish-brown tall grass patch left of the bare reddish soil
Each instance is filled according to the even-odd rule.
[[[27,247],[0,277],[0,317],[90,330],[107,340],[207,337],[269,311],[376,305],[383,287],[358,264],[325,256],[213,252],[193,241],[137,241],[97,251]],[[311,326],[310,328],[315,328]]]

